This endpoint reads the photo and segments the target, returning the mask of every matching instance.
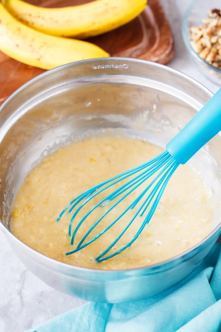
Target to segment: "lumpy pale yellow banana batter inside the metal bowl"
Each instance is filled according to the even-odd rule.
[[[98,240],[68,256],[65,253],[76,247],[71,245],[68,235],[72,214],[66,213],[59,222],[56,221],[63,208],[85,190],[155,157],[162,151],[160,147],[139,139],[114,136],[92,137],[58,149],[29,173],[18,191],[12,211],[12,232],[28,246],[46,256],[92,269],[138,268],[186,251],[212,231],[210,190],[188,164],[180,165],[175,171],[150,223],[145,226],[138,239],[130,248],[107,261],[97,263],[94,259],[128,224],[134,210],[129,210],[124,218]],[[112,214],[100,222],[88,239],[110,224],[138,193],[133,195],[114,208]],[[91,204],[95,203],[93,201]],[[84,209],[80,217],[90,207],[92,205]],[[104,213],[104,209],[105,207],[96,209],[83,222],[76,236],[77,244],[88,228]],[[79,220],[80,218],[74,221],[73,230]],[[128,243],[142,221],[138,217],[112,251]]]

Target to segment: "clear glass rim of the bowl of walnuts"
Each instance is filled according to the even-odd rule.
[[[188,37],[188,18],[190,16],[191,10],[193,9],[193,6],[195,5],[195,3],[198,0],[194,0],[190,6],[188,7],[187,11],[184,14],[183,20],[182,20],[182,36],[183,36],[183,40],[185,43],[185,46],[187,48],[187,50],[193,55],[193,57],[195,57],[201,64],[206,65],[209,69],[212,69],[214,71],[216,71],[217,73],[221,74],[221,68],[215,67],[213,65],[211,65],[210,63],[208,63],[207,61],[205,61],[204,59],[202,59],[199,54],[193,49],[193,47],[191,46],[190,43],[190,39]]]

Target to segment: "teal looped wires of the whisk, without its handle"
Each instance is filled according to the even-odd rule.
[[[67,252],[66,255],[71,255],[83,248],[85,248],[86,246],[88,246],[89,244],[91,244],[92,242],[94,242],[95,240],[97,240],[100,236],[102,236],[105,232],[107,232],[117,221],[119,221],[121,219],[121,217],[123,215],[125,215],[127,213],[127,211],[129,209],[133,209],[139,202],[140,200],[143,198],[143,196],[147,193],[147,191],[151,188],[151,186],[158,180],[157,184],[155,185],[155,187],[150,191],[149,195],[147,196],[147,198],[144,200],[144,202],[141,204],[141,206],[138,208],[137,212],[135,213],[135,215],[133,216],[133,218],[130,220],[130,222],[127,224],[127,226],[123,229],[123,231],[117,236],[117,238],[108,246],[108,248],[106,248],[99,256],[96,257],[96,261],[97,262],[102,262],[104,260],[107,260],[117,254],[119,254],[120,252],[122,252],[123,250],[125,250],[126,248],[128,248],[129,246],[131,246],[131,244],[137,239],[137,237],[139,236],[139,234],[142,232],[144,226],[146,223],[149,222],[149,220],[152,217],[152,214],[154,213],[158,202],[162,196],[162,193],[166,187],[167,182],[169,181],[171,175],[173,174],[174,170],[176,169],[176,167],[179,165],[179,163],[177,163],[175,161],[175,159],[170,155],[170,153],[168,151],[164,151],[163,153],[159,154],[157,157],[151,159],[150,161],[143,163],[142,165],[135,167],[129,171],[126,171],[124,173],[121,173],[119,175],[117,175],[116,177],[113,177],[109,180],[104,181],[103,183],[100,183],[90,189],[88,189],[87,191],[85,191],[83,194],[79,195],[78,197],[76,197],[75,199],[73,199],[65,208],[64,210],[60,213],[60,215],[57,218],[57,221],[60,220],[60,218],[62,217],[62,215],[68,210],[68,213],[71,213],[73,211],[73,209],[75,207],[77,207],[79,204],[80,206],[77,207],[76,211],[74,212],[74,214],[71,217],[71,220],[69,222],[69,235],[71,236],[71,244],[74,244],[74,239],[75,236],[80,228],[80,226],[82,225],[83,221],[97,208],[97,207],[104,207],[106,206],[107,203],[110,203],[111,201],[113,201],[114,199],[116,199],[117,197],[121,196],[122,194],[124,194],[122,197],[120,197],[120,199],[117,200],[117,202],[115,202],[109,209],[107,209],[107,211],[105,211],[102,216],[100,218],[98,218],[98,220],[96,220],[96,222],[88,229],[88,231],[86,232],[86,234],[83,236],[83,238],[80,240],[79,244],[77,245],[77,248],[75,250],[72,250],[70,252]],[[154,173],[156,173],[157,171],[159,171],[159,173],[154,177],[154,179],[148,184],[148,186],[138,195],[138,197],[115,219],[113,220],[108,226],[106,226],[101,232],[99,232],[96,236],[94,236],[92,239],[90,239],[89,241],[87,241],[86,243],[83,243],[86,238],[88,237],[88,235],[91,233],[91,231],[98,225],[98,223],[111,211],[113,210],[114,207],[116,207],[118,204],[120,204],[127,196],[129,196],[132,192],[134,192],[141,184],[143,184],[146,180],[148,180]],[[136,174],[137,172],[140,172],[138,175],[136,175],[134,178],[132,178],[130,181],[126,182],[125,184],[123,184],[122,186],[120,186],[119,188],[117,188],[116,190],[114,190],[111,194],[109,194],[108,196],[106,196],[105,198],[101,199],[97,204],[95,204],[84,216],[83,218],[78,222],[78,224],[76,225],[73,233],[72,231],[72,225],[73,222],[77,216],[77,214],[79,213],[79,211],[88,203],[90,202],[94,197],[96,197],[97,195],[99,195],[100,193],[102,193],[103,191],[105,191],[106,189],[112,187],[113,185],[119,183],[122,180],[125,180],[126,178]],[[103,187],[103,188],[102,188]],[[158,192],[159,190],[159,192]],[[126,192],[126,193],[125,193]],[[158,192],[158,194],[157,194]],[[141,226],[139,227],[137,233],[135,234],[135,236],[133,237],[132,240],[130,240],[125,246],[123,246],[121,249],[117,250],[116,252],[105,256],[110,250],[111,248],[113,248],[113,246],[120,240],[120,238],[123,236],[123,234],[127,231],[127,229],[130,227],[130,225],[132,224],[132,222],[136,219],[136,217],[138,216],[138,214],[140,213],[140,216],[143,216],[143,214],[145,213],[146,209],[149,207],[150,203],[152,202],[153,198],[155,197],[155,195],[157,194],[147,216],[144,218]],[[81,203],[84,200],[83,203]],[[71,235],[72,233],[72,235]],[[105,257],[104,257],[105,256]]]

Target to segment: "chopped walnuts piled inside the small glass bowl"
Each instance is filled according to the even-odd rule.
[[[191,27],[191,46],[203,60],[221,68],[221,9],[212,9],[202,22]]]

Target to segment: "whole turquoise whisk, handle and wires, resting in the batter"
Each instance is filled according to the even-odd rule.
[[[108,229],[110,229],[120,218],[126,214],[129,209],[133,209],[138,203],[141,206],[138,208],[133,218],[129,221],[127,226],[118,235],[118,237],[105,249],[98,257],[96,257],[97,262],[105,261],[129,246],[138,238],[139,234],[142,232],[143,228],[147,223],[149,223],[156,207],[160,201],[166,185],[171,178],[174,171],[180,164],[185,164],[204,144],[206,144],[213,136],[215,136],[221,130],[221,89],[204,105],[204,107],[194,116],[194,118],[166,145],[166,150],[159,154],[157,157],[145,162],[138,167],[135,167],[127,172],[113,177],[107,181],[104,181],[89,190],[85,191],[75,199],[73,199],[60,213],[57,221],[59,221],[62,215],[68,210],[68,213],[74,211],[72,218],[69,223],[69,235],[71,236],[71,244],[74,244],[75,236],[82,225],[82,223],[87,219],[88,216],[98,207],[108,207],[109,203],[114,201],[114,204],[109,207],[98,220],[88,229],[86,234],[82,237],[78,243],[75,250],[72,250],[66,255],[71,255],[84,247],[88,246],[90,243],[97,240],[102,234],[104,234]],[[154,173],[157,173],[153,177]],[[118,206],[128,195],[134,192],[140,185],[147,181],[150,177],[150,183],[147,187],[142,190],[138,197],[115,218],[107,227],[105,227],[100,233],[86,241],[88,235],[91,231],[99,224],[99,222],[115,207]],[[126,182],[125,179],[128,178]],[[123,181],[125,180],[125,181]],[[83,218],[75,226],[72,232],[73,222],[78,215],[79,211],[86,206],[94,197],[109,190],[113,185],[122,185],[116,190],[112,191],[100,202],[95,204],[89,211],[83,216]],[[118,200],[116,200],[118,198]],[[149,209],[148,209],[149,208]],[[148,209],[148,210],[147,210]],[[132,222],[136,217],[145,216],[143,222],[141,223],[137,233],[121,249],[107,255],[107,253],[114,247],[114,245],[119,241],[123,234],[130,227]],[[86,241],[86,242],[85,242]]]

